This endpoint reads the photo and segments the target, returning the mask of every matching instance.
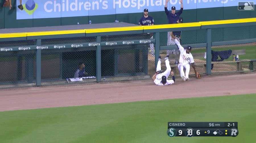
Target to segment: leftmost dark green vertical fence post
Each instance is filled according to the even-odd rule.
[[[41,46],[41,39],[37,39],[37,46]],[[41,49],[36,50],[36,86],[41,85]]]

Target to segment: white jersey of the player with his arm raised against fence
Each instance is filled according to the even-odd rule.
[[[183,63],[183,64],[191,64],[194,61],[194,58],[192,56],[192,54],[189,52],[189,54],[186,52],[186,49],[184,49],[179,41],[177,39],[175,39],[175,43],[178,45],[179,47],[179,51],[180,51],[180,55],[179,55],[179,63]]]

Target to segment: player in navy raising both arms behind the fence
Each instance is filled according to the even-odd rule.
[[[167,18],[168,18],[168,23],[169,24],[175,24],[175,23],[177,23],[177,21],[179,19],[179,16],[181,15],[181,13],[183,11],[183,3],[182,3],[183,0],[180,0],[180,3],[181,3],[180,10],[178,12],[176,12],[175,6],[172,6],[172,12],[171,13],[167,9],[167,4],[168,4],[169,1],[170,0],[166,0],[164,10],[165,10],[165,13],[166,13]],[[171,42],[172,42],[171,32],[168,32],[167,33],[167,45],[172,45]],[[169,55],[169,52],[170,52],[170,50],[167,50],[166,54]]]

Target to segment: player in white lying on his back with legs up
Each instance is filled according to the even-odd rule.
[[[171,72],[170,62],[169,62],[169,55],[164,58],[166,71],[161,70],[161,57],[159,56],[157,66],[156,66],[156,73],[152,76],[152,79],[156,85],[169,85],[173,84],[175,81],[174,73]],[[172,80],[168,80],[168,76],[172,74]]]

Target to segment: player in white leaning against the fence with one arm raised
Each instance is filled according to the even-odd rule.
[[[195,74],[196,74],[197,78],[201,78],[200,74],[197,72],[197,70],[195,68],[194,58],[193,58],[192,54],[190,53],[192,47],[187,46],[184,49],[172,33],[171,33],[171,36],[172,36],[172,38],[174,38],[175,43],[178,45],[179,51],[180,51],[178,69],[179,69],[181,79],[183,81],[188,81],[189,80],[190,64],[193,67],[193,69],[195,70]],[[184,74],[183,68],[186,69],[185,74]]]

